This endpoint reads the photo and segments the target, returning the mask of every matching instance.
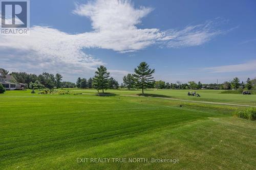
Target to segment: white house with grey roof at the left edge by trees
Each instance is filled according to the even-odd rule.
[[[25,89],[24,83],[17,83],[12,75],[5,75],[2,70],[0,70],[0,84],[2,84],[6,90]]]

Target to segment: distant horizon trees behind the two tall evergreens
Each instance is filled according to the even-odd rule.
[[[148,65],[145,62],[144,63],[148,68]],[[142,65],[143,66],[143,65]],[[141,69],[141,65],[138,66],[138,69]],[[105,67],[104,67],[105,68]],[[62,76],[60,74],[50,74],[48,72],[43,72],[40,75],[36,74],[28,74],[27,72],[9,72],[6,69],[0,68],[5,75],[12,75],[16,82],[14,83],[24,83],[26,84],[27,88],[30,89],[36,89],[36,88],[96,88],[96,89],[102,89],[100,87],[96,87],[95,85],[95,77],[94,78],[78,78],[76,83],[68,82],[68,81],[62,81]],[[106,69],[106,68],[105,68]],[[154,69],[152,69],[154,70]],[[155,70],[154,70],[155,71]],[[201,83],[201,82],[195,82],[195,81],[189,81],[187,83],[182,83],[180,81],[177,81],[176,83],[169,83],[162,80],[155,81],[153,80],[151,72],[150,79],[152,81],[149,81],[148,83],[144,84],[143,89],[146,88],[157,88],[157,89],[223,89],[223,90],[256,90],[256,79],[250,79],[248,78],[246,82],[241,82],[238,77],[234,78],[232,81],[224,82],[224,83]],[[138,72],[139,73],[139,72]],[[108,78],[108,81],[104,86],[105,89],[118,89],[118,88],[127,88],[127,89],[139,89],[142,88],[141,84],[136,83],[136,74],[127,74],[123,77],[123,83],[119,84],[117,80],[115,80],[113,77]],[[137,79],[140,76],[137,75]]]

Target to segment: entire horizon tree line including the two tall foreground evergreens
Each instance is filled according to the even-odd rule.
[[[0,68],[6,75],[9,71]],[[40,75],[28,74],[26,72],[11,72],[17,82],[25,83],[27,88],[30,89],[42,89],[42,88],[95,88],[98,91],[106,89],[144,89],[146,88],[157,88],[157,89],[234,89],[234,90],[251,90],[256,89],[256,79],[247,79],[246,82],[240,82],[239,78],[234,78],[230,82],[224,82],[222,84],[211,83],[202,84],[201,82],[196,83],[195,81],[189,81],[188,83],[182,83],[177,81],[176,83],[168,83],[162,80],[155,81],[153,74],[155,69],[150,68],[146,62],[141,62],[136,68],[134,68],[134,74],[127,74],[123,77],[123,83],[119,85],[113,77],[110,77],[110,73],[107,71],[105,66],[100,66],[95,71],[95,76],[93,78],[78,78],[76,83],[72,82],[61,82],[62,76],[60,74],[49,74],[48,72],[43,72]]]

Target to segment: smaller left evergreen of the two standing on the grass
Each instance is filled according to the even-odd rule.
[[[110,73],[106,71],[106,67],[101,65],[97,68],[97,71],[95,71],[95,76],[93,79],[93,86],[97,90],[102,90],[102,93],[104,93],[104,89],[108,89],[109,87],[109,77]]]

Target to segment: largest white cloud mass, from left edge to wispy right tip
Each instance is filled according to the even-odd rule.
[[[34,26],[29,36],[1,35],[1,66],[19,70],[26,67],[24,71],[31,72],[44,70],[69,75],[84,72],[92,74],[96,66],[104,63],[86,54],[87,48],[125,53],[152,44],[167,44],[167,47],[194,46],[221,34],[212,21],[183,30],[138,29],[141,19],[152,10],[146,7],[135,8],[131,1],[98,0],[77,4],[73,13],[89,17],[94,31],[71,35],[50,27]],[[113,74],[117,72],[113,71]]]

